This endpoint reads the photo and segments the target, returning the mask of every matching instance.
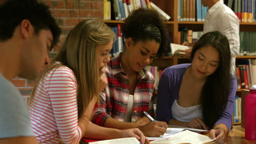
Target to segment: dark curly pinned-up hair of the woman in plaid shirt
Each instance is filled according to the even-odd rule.
[[[167,31],[164,21],[156,11],[144,8],[133,10],[124,22],[121,31],[125,38],[132,38],[135,43],[155,40],[160,44],[157,56],[161,57],[165,54],[167,51]]]

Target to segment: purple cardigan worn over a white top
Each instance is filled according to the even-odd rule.
[[[156,119],[158,121],[165,121],[168,123],[173,119],[171,106],[174,100],[179,97],[179,88],[181,88],[183,75],[190,65],[191,64],[173,65],[162,72],[158,85],[156,104]],[[228,104],[226,105],[226,109],[222,113],[222,116],[220,116],[218,121],[214,124],[223,123],[229,130],[231,129],[236,95],[236,79],[233,75],[231,76],[231,91],[228,98]]]

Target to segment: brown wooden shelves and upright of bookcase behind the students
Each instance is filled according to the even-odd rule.
[[[160,9],[164,10],[171,19],[166,21],[166,28],[170,33],[172,43],[178,44],[178,28],[187,27],[193,31],[203,31],[203,22],[194,21],[178,21],[178,0],[150,0],[156,4]],[[117,26],[117,24],[124,23],[123,21],[109,20],[104,21],[108,26]],[[240,22],[241,32],[256,32],[256,23]],[[256,56],[237,56],[237,59],[256,59]],[[171,65],[180,63],[189,63],[190,59],[181,57],[163,57],[161,59],[155,59],[152,66],[158,66],[159,69],[165,69]],[[241,89],[237,89],[238,97],[241,97]],[[240,123],[234,123],[235,125]]]

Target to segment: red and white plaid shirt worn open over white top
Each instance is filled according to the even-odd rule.
[[[130,91],[129,79],[121,68],[120,59],[119,53],[107,64],[105,74],[108,85],[101,93],[101,105],[96,104],[94,107],[92,118],[92,122],[97,125],[103,126],[109,117],[125,121]],[[133,94],[131,122],[143,117],[143,111],[147,111],[151,116],[154,115],[154,77],[146,69],[141,70],[139,76]]]

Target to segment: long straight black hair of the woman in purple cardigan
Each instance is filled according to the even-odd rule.
[[[191,59],[195,52],[202,47],[212,46],[219,53],[219,67],[210,76],[202,88],[200,102],[202,106],[203,122],[211,129],[222,115],[228,103],[230,93],[230,61],[231,52],[229,40],[220,32],[208,32],[195,43]]]

